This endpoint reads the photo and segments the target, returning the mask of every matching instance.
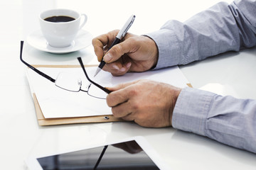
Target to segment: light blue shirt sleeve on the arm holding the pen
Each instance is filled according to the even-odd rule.
[[[256,0],[237,0],[220,2],[184,23],[167,21],[160,30],[146,34],[159,49],[155,69],[255,46],[255,13]]]

